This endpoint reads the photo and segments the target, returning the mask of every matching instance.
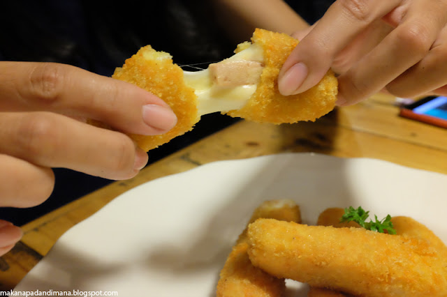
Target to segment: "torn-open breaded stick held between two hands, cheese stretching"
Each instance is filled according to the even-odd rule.
[[[186,73],[166,52],[142,47],[117,68],[112,77],[131,82],[165,100],[177,115],[177,125],[165,135],[130,135],[145,151],[188,132],[210,112],[249,121],[295,123],[315,121],[330,112],[337,97],[337,79],[329,71],[305,93],[281,96],[279,70],[298,40],[283,33],[256,29],[252,44],[238,45],[234,56],[210,69]]]

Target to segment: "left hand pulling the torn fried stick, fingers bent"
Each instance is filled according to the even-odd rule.
[[[0,206],[12,207],[50,196],[51,167],[135,176],[147,153],[124,132],[157,135],[177,121],[163,100],[133,84],[57,63],[0,62],[0,110]],[[20,229],[0,221],[0,254],[20,236]]]

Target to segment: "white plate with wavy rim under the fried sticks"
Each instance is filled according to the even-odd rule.
[[[305,223],[328,207],[409,215],[447,243],[447,176],[365,158],[288,153],[214,162],[140,185],[66,232],[17,291],[214,296],[261,201],[294,199]],[[305,296],[293,284],[291,296]],[[298,293],[296,292],[298,291]]]

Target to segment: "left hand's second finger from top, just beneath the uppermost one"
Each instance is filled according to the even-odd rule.
[[[43,167],[126,179],[135,176],[147,162],[147,153],[121,132],[60,114],[0,113],[0,127],[0,153]]]

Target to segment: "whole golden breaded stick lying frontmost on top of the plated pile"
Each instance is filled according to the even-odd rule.
[[[272,219],[247,236],[251,263],[276,277],[360,296],[447,296],[447,268],[419,238]]]

